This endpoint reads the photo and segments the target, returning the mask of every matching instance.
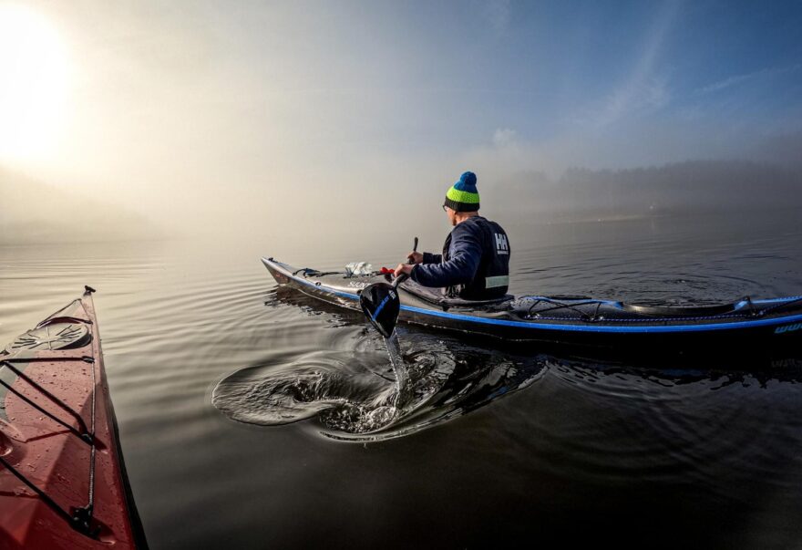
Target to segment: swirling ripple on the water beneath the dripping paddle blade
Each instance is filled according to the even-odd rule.
[[[545,365],[542,358],[435,337],[416,338],[403,357],[403,400],[386,351],[378,349],[264,361],[222,379],[212,403],[232,420],[263,426],[312,420],[331,439],[379,441],[424,430],[525,388]]]

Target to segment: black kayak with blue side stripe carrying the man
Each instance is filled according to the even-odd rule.
[[[280,285],[359,311],[367,285],[388,275],[346,275],[262,263]],[[504,296],[485,302],[442,296],[406,280],[398,286],[399,320],[506,341],[659,354],[724,351],[802,356],[802,296],[745,297],[715,306],[638,306],[586,296]]]

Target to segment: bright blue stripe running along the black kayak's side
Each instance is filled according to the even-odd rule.
[[[350,300],[359,300],[359,296],[347,292],[340,292],[330,287],[318,286],[309,281],[299,279],[295,275],[285,273],[286,276],[291,277],[294,281],[302,283],[303,285],[313,286],[317,290],[322,290],[334,296],[348,298]],[[527,296],[530,297],[530,296]],[[545,297],[545,296],[544,296]],[[752,300],[753,304],[787,302],[794,298],[771,298],[766,300]],[[791,317],[776,317],[774,319],[756,319],[753,321],[736,321],[725,323],[709,323],[706,325],[667,325],[655,327],[610,327],[599,325],[557,325],[546,323],[532,323],[530,321],[509,321],[507,319],[490,319],[488,317],[476,317],[469,315],[459,315],[456,313],[447,313],[446,311],[437,311],[434,309],[424,309],[415,306],[401,306],[402,311],[411,311],[420,313],[431,317],[443,317],[447,319],[458,319],[468,323],[477,323],[479,325],[499,325],[501,327],[517,327],[517,328],[539,328],[544,330],[570,330],[573,332],[611,332],[611,333],[642,333],[642,332],[700,332],[704,330],[732,330],[736,328],[751,328],[751,327],[770,327],[772,325],[783,325],[785,323],[793,323],[795,321],[802,321],[802,315],[795,315]]]

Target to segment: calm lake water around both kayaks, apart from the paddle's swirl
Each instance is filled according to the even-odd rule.
[[[499,221],[516,294],[687,304],[802,295],[800,219]],[[444,236],[421,247],[439,248]],[[441,369],[437,388],[469,395],[463,409],[374,442],[341,441],[331,415],[258,425],[271,414],[260,380],[277,372],[336,376],[337,402],[393,384],[384,341],[364,319],[277,288],[260,256],[377,267],[395,265],[406,246],[265,236],[0,247],[0,341],[83,285],[98,289],[122,447],[152,548],[802,547],[794,364],[611,367],[401,327],[407,360]],[[254,390],[224,413],[212,391],[231,375]]]

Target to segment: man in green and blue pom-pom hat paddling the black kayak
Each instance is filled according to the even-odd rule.
[[[498,223],[478,213],[477,177],[472,171],[446,193],[443,210],[454,226],[443,244],[443,254],[410,252],[411,264],[399,264],[395,275],[405,273],[419,285],[443,288],[448,297],[489,300],[507,294],[509,239]]]

